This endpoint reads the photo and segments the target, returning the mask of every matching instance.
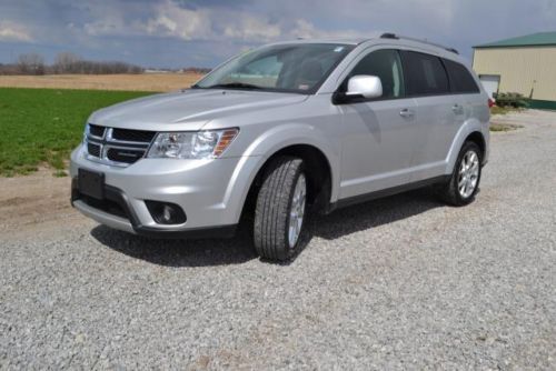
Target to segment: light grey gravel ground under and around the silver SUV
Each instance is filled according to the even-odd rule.
[[[556,113],[503,120],[475,203],[340,210],[286,265],[1,201],[0,369],[555,370]]]

